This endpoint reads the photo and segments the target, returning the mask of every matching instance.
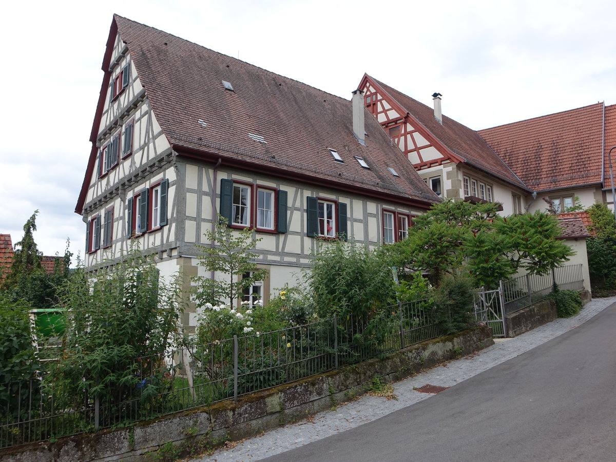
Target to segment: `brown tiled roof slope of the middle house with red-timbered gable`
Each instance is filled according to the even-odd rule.
[[[503,162],[479,134],[452,118],[443,116],[440,124],[434,118],[434,108],[407,96],[396,89],[372,78],[389,94],[404,110],[421,123],[433,136],[464,162],[475,168],[487,171],[518,187],[527,189],[516,174]]]

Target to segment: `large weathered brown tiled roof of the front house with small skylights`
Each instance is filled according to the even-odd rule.
[[[367,110],[366,144],[357,142],[350,100],[127,18],[114,21],[176,152],[425,206],[439,201]],[[328,148],[344,163],[334,162]]]

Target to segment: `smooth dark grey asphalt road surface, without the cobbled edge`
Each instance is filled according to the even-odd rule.
[[[432,399],[265,460],[616,461],[616,305]]]

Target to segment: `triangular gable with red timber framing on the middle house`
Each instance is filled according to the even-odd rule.
[[[364,91],[364,101],[368,110],[376,117],[400,150],[405,153],[415,169],[434,167],[449,162],[457,164],[463,161],[460,156],[455,155],[436,139],[370,76],[363,76],[359,89]],[[425,142],[422,140],[419,144],[416,134],[421,136]],[[440,157],[424,159],[421,152],[426,148],[435,148],[440,153]]]

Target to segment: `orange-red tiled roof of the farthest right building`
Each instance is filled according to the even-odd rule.
[[[535,191],[602,181],[603,103],[480,130]]]

